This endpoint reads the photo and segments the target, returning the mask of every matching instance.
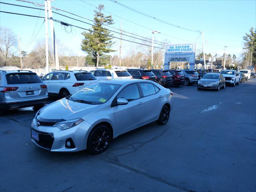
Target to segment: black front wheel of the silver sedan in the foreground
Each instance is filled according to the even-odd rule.
[[[105,125],[96,126],[88,136],[87,150],[91,154],[100,154],[108,148],[111,140],[110,128]]]

